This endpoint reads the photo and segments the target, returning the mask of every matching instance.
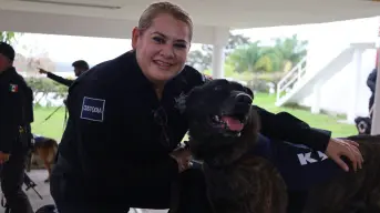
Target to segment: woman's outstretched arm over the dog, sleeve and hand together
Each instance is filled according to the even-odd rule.
[[[363,158],[357,142],[331,139],[330,131],[310,128],[307,123],[287,112],[274,114],[256,105],[253,108],[257,110],[260,116],[260,132],[264,135],[322,151],[345,171],[348,171],[349,168],[341,160],[341,156],[346,156],[351,161],[355,171],[361,168]]]

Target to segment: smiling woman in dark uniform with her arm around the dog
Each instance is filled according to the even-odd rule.
[[[174,151],[187,131],[181,97],[205,81],[185,67],[192,37],[185,11],[153,3],[133,29],[133,51],[94,67],[70,88],[70,119],[51,178],[60,213],[168,209],[174,181],[184,192],[175,201],[181,213],[206,211],[202,173],[187,170],[188,151]],[[345,170],[340,155],[355,168],[362,162],[353,142],[330,139],[291,115],[260,114],[269,138],[326,151]]]

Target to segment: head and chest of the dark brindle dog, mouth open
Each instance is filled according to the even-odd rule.
[[[189,148],[204,161],[214,213],[285,213],[286,186],[267,160],[246,155],[259,123],[253,93],[239,83],[213,80],[186,99]]]

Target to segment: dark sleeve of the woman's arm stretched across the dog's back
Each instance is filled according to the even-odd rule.
[[[256,105],[253,106],[260,116],[260,132],[271,139],[304,144],[317,151],[326,151],[331,139],[331,132],[310,128],[296,116],[280,112],[270,113]]]

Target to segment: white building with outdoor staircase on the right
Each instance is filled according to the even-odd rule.
[[[315,113],[342,113],[349,122],[358,115],[367,116],[371,94],[367,78],[376,67],[379,19],[322,23],[310,30],[314,37],[309,39],[306,69],[289,89],[291,94],[278,99],[277,105],[294,102],[310,106]],[[297,82],[305,85],[298,89]]]

